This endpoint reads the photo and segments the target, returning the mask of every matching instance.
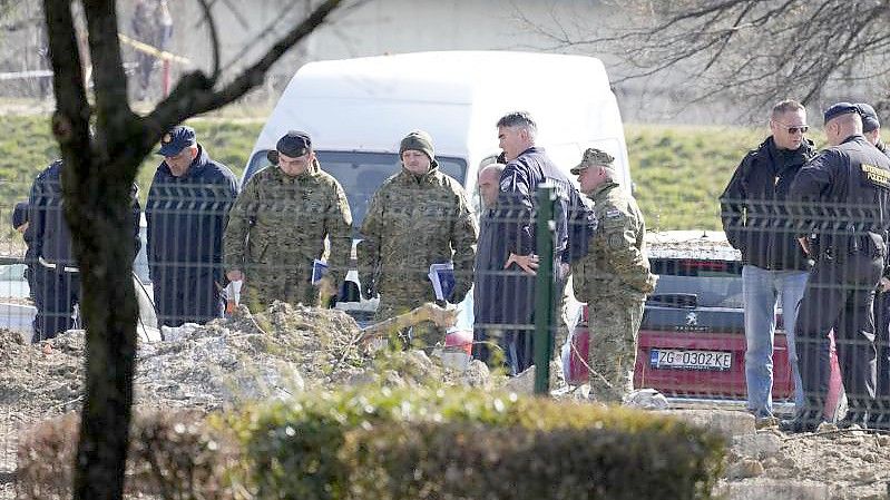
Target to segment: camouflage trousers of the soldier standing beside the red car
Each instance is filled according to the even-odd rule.
[[[587,303],[590,393],[598,401],[619,403],[634,389],[637,334],[645,302],[645,295],[635,292],[591,297]]]

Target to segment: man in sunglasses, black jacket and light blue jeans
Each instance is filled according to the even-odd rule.
[[[742,252],[745,306],[747,409],[759,421],[773,419],[773,336],[781,297],[794,401],[803,403],[794,346],[798,304],[808,278],[806,255],[789,225],[785,197],[801,167],[814,155],[804,138],[806,110],[794,100],[776,104],[772,135],[750,151],[720,197],[721,219],[730,244]]]

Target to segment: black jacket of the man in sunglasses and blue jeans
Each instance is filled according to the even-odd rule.
[[[771,271],[806,269],[806,255],[789,217],[786,197],[801,167],[815,155],[805,140],[794,151],[773,138],[750,151],[720,196],[723,231],[745,264]]]

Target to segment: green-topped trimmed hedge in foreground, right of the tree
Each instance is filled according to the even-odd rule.
[[[711,498],[724,441],[620,408],[355,389],[231,415],[257,498]]]

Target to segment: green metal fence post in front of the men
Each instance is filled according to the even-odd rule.
[[[538,275],[535,283],[535,394],[550,393],[550,357],[554,325],[554,204],[556,190],[549,184],[538,187],[536,246]]]

